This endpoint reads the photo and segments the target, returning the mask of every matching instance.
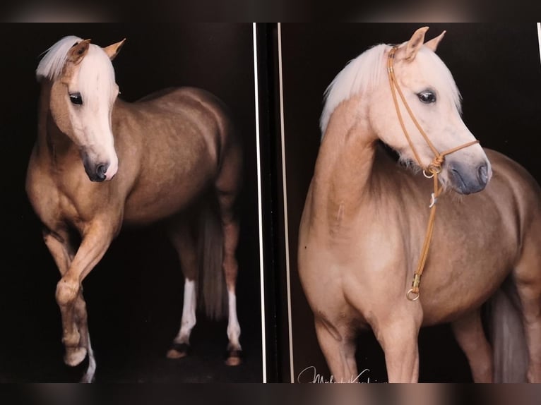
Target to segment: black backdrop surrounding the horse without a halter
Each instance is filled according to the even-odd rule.
[[[251,24],[1,25],[0,381],[75,381],[62,362],[59,273],[26,197],[37,130],[40,54],[65,35],[126,43],[113,65],[126,101],[170,86],[202,87],[232,109],[244,139],[237,306],[244,363],[224,365],[227,322],[198,314],[189,358],[165,358],[182,314],[183,277],[160,225],[123,229],[83,283],[97,382],[262,380],[254,54]]]

